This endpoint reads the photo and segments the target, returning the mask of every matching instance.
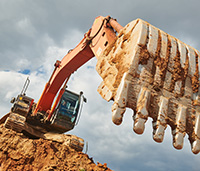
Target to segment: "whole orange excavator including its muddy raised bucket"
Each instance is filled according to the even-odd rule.
[[[112,121],[120,125],[126,108],[133,110],[133,131],[142,134],[152,118],[153,139],[161,143],[167,126],[172,144],[182,149],[187,134],[194,154],[200,151],[200,52],[177,38],[136,19],[121,26],[110,16],[99,16],[84,38],[70,50],[46,83],[39,101],[22,92],[12,99],[11,111],[0,123],[29,136],[64,141],[80,115],[83,93],[67,89],[70,75],[91,58],[102,77],[99,94],[112,100]],[[70,135],[80,151],[84,140]]]

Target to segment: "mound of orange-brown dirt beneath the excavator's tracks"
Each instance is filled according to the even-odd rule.
[[[28,171],[101,171],[110,169],[97,165],[87,154],[44,139],[29,139],[0,125],[0,170]]]

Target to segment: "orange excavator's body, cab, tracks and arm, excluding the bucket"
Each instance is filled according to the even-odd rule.
[[[6,128],[23,132],[30,137],[46,139],[52,137],[60,139],[60,136],[55,133],[64,133],[73,129],[82,102],[86,102],[86,98],[82,92],[77,94],[67,90],[70,75],[94,56],[98,57],[100,52],[116,39],[115,31],[119,32],[122,28],[110,17],[96,18],[92,28],[84,35],[81,42],[61,61],[56,61],[55,69],[39,101],[35,103],[33,98],[26,96],[25,92],[30,83],[27,78],[22,92],[17,98],[11,100],[13,107],[1,119],[1,123],[5,122]],[[76,145],[75,149],[82,149],[82,139],[73,136],[70,140],[73,141],[72,145]]]

